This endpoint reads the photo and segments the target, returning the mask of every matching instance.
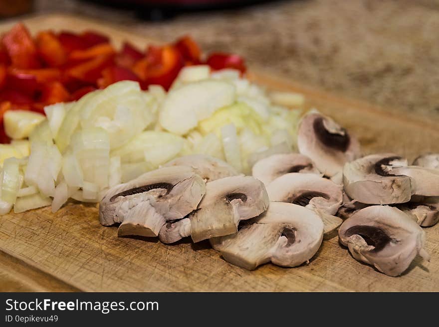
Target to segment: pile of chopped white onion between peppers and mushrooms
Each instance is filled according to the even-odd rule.
[[[181,70],[169,91],[121,81],[73,102],[4,114],[1,214],[68,199],[99,202],[109,187],[187,154],[208,154],[249,173],[252,164],[295,148],[296,94],[267,94],[233,69]]]

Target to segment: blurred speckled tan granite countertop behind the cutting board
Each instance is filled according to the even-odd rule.
[[[107,19],[164,41],[191,34],[249,66],[439,121],[439,0],[272,1],[161,22],[76,0],[35,0],[35,10]]]

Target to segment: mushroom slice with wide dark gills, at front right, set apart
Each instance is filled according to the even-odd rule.
[[[352,256],[374,265],[389,276],[402,274],[423,249],[425,234],[416,221],[389,206],[371,206],[345,220],[338,231],[340,242]]]

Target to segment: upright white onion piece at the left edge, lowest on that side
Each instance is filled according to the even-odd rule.
[[[8,158],[4,160],[1,180],[1,200],[14,204],[21,184],[17,159]]]

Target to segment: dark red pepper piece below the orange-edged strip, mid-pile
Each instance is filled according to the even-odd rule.
[[[112,56],[99,56],[80,63],[66,71],[67,76],[95,85],[101,72],[113,64]]]

